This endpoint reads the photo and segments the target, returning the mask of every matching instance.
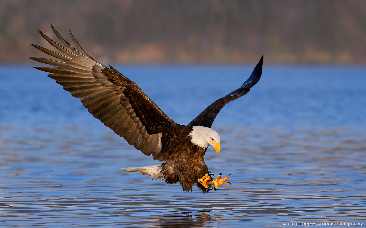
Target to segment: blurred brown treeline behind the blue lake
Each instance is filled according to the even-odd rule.
[[[366,63],[365,0],[0,0],[0,63],[41,57],[49,23],[104,64]]]

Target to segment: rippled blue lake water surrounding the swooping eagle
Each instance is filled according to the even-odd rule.
[[[214,174],[232,174],[231,185],[203,195],[122,171],[157,162],[28,68],[0,71],[7,76],[0,76],[0,97],[10,96],[0,103],[1,227],[305,227],[283,223],[365,221],[362,69],[264,69],[256,88],[228,104],[214,122],[221,152],[210,148],[205,161]],[[179,123],[193,119],[209,98],[235,89],[231,82],[244,70],[127,69]],[[252,67],[247,70],[250,74]],[[207,71],[227,87],[212,90],[217,87],[200,82],[197,76]],[[14,93],[9,76],[19,72],[26,83]],[[176,74],[178,82],[167,82],[173,94],[151,89],[162,82],[149,77]],[[344,84],[347,74],[352,80]],[[187,78],[197,78],[197,85],[184,84]],[[186,102],[190,99],[195,102]]]

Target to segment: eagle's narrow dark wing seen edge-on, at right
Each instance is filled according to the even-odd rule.
[[[213,121],[215,120],[217,114],[220,110],[230,101],[233,101],[239,97],[247,94],[255,84],[259,81],[262,75],[262,64],[263,64],[263,56],[259,60],[257,66],[255,66],[251,76],[246,80],[243,85],[234,90],[233,92],[227,94],[224,97],[221,97],[219,100],[216,100],[214,103],[210,104],[203,112],[201,112],[194,120],[191,121],[187,126],[203,126],[203,127],[211,127]]]

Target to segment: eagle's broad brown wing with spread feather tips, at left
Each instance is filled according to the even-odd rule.
[[[57,66],[35,68],[52,73],[48,77],[55,79],[72,96],[79,98],[94,117],[117,135],[123,136],[137,150],[148,156],[153,154],[153,158],[157,159],[161,155],[162,144],[164,147],[165,143],[175,137],[177,124],[135,82],[113,67],[105,67],[91,58],[71,32],[71,38],[80,51],[62,38],[53,26],[52,30],[69,50],[39,31],[43,38],[66,55],[31,44],[61,60],[30,58]]]

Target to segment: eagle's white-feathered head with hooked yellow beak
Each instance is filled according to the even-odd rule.
[[[207,148],[208,145],[213,146],[216,152],[220,152],[220,135],[209,127],[193,126],[193,130],[189,133],[191,143]]]

